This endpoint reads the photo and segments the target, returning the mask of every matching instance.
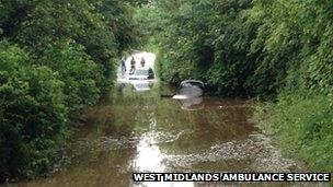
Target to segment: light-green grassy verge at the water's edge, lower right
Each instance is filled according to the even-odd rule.
[[[311,172],[333,172],[332,96],[280,95],[276,104],[256,108],[260,128],[274,136],[290,156],[305,161]]]

